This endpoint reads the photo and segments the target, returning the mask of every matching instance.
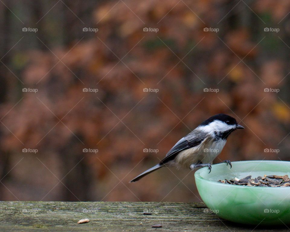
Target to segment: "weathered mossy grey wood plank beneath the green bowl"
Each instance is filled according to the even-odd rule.
[[[203,203],[0,202],[0,231],[252,231],[206,213]],[[151,211],[151,215],[143,214]],[[80,219],[90,222],[77,224]],[[152,228],[162,224],[162,228]],[[262,231],[255,228],[254,231]],[[275,228],[267,227],[267,231]],[[264,230],[263,230],[264,231]],[[286,226],[279,231],[288,231]]]

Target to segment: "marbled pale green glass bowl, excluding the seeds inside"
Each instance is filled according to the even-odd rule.
[[[252,175],[289,175],[290,162],[255,160],[212,165],[195,172],[195,182],[208,212],[228,221],[252,225],[290,224],[290,187],[258,187],[217,182]]]

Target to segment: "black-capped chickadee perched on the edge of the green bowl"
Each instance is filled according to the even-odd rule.
[[[211,172],[212,161],[221,153],[227,137],[236,129],[244,129],[236,119],[226,114],[217,114],[202,122],[192,132],[179,140],[159,164],[141,173],[130,182],[140,180],[149,173],[164,166],[177,168],[208,167]],[[222,163],[229,164],[230,160]]]

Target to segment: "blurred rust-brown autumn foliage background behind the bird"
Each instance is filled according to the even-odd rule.
[[[200,201],[189,169],[128,181],[217,113],[246,129],[215,162],[290,160],[289,1],[6,1],[0,11],[1,200]]]

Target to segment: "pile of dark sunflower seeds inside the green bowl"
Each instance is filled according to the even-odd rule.
[[[252,178],[252,176],[246,176],[245,178],[238,179],[235,177],[234,179],[224,179],[219,180],[218,182],[223,184],[231,184],[231,185],[246,185],[246,186],[262,186],[262,187],[289,187],[290,179],[288,175],[284,176],[258,176],[256,178]]]

